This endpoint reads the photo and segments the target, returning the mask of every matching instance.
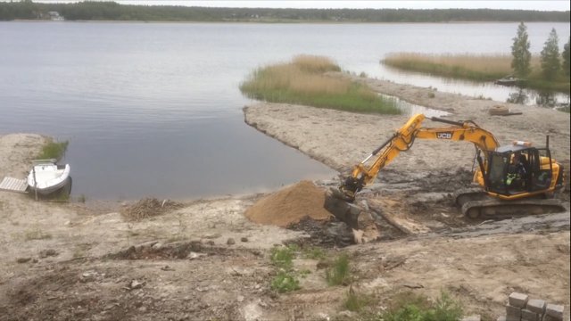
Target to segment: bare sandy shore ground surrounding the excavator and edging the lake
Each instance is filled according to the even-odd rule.
[[[569,117],[522,105],[522,116],[492,117],[497,103],[427,88],[360,79],[379,92],[473,119],[502,144],[551,139],[553,156],[569,159]],[[434,93],[434,97],[431,98]],[[287,104],[244,109],[247,123],[340,171],[350,169],[385,141],[408,116],[377,116]],[[432,126],[426,121],[426,126]],[[0,177],[25,177],[42,136],[0,136]],[[397,293],[436,297],[451,292],[466,314],[495,320],[510,292],[564,304],[569,311],[569,213],[525,221],[470,222],[445,202],[464,184],[473,147],[417,142],[381,176],[377,187],[386,215],[413,228],[380,243],[326,248],[351,257],[353,291],[384,309]],[[459,174],[458,174],[459,173]],[[469,175],[468,175],[469,178]],[[181,204],[160,216],[129,221],[116,209],[82,203],[34,202],[0,192],[0,320],[316,320],[347,316],[348,287],[329,287],[318,259],[294,260],[307,271],[302,290],[277,294],[269,248],[308,235],[244,218],[260,195]],[[568,200],[568,198],[567,198]],[[481,224],[484,223],[484,224]],[[431,232],[416,234],[418,232]],[[443,256],[445,253],[445,256]]]

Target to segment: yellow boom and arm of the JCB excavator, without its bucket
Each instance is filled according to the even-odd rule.
[[[352,175],[344,179],[343,184],[339,187],[340,193],[336,194],[336,196],[344,201],[354,201],[355,193],[360,192],[364,186],[373,182],[378,172],[393,161],[400,152],[409,150],[417,138],[467,141],[473,143],[476,146],[476,155],[480,170],[484,172],[485,161],[488,159],[488,151],[495,150],[499,145],[492,133],[479,128],[473,121],[459,122],[435,117],[431,119],[451,126],[422,128],[421,125],[425,119],[426,117],[423,114],[417,114],[411,117],[409,121],[399,128],[384,144],[381,144],[375,151],[371,152],[365,160],[354,166]],[[482,159],[482,154],[484,154],[484,159]],[[374,156],[377,156],[377,158],[370,166],[367,166],[366,163]]]

